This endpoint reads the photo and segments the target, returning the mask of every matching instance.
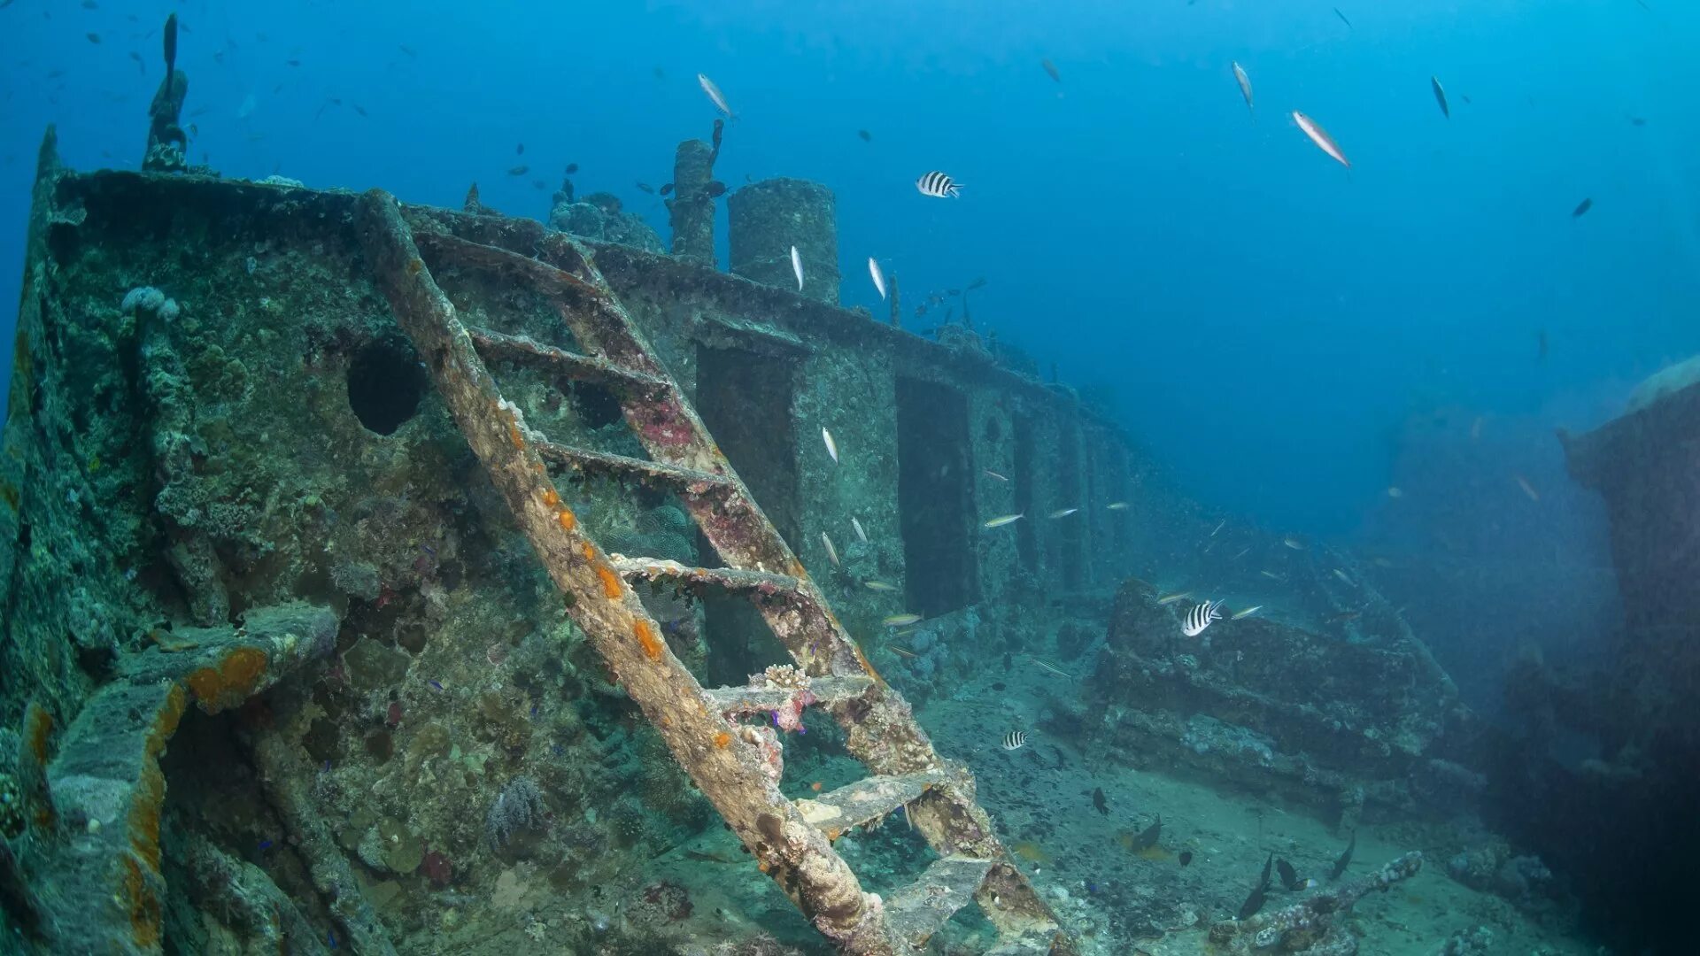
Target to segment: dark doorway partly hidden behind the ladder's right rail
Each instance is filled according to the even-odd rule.
[[[697,413],[792,549],[802,536],[797,435],[790,418],[796,369],[797,362],[787,357],[697,347]],[[707,541],[699,543],[699,551],[712,555]],[[768,663],[789,660],[750,600],[711,595],[702,614],[712,684],[743,684]]]

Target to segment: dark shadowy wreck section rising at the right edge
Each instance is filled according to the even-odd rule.
[[[1508,832],[1583,876],[1578,895],[1612,913],[1625,951],[1681,953],[1685,902],[1646,888],[1685,885],[1700,854],[1700,356],[1559,441],[1571,476],[1605,500],[1624,624],[1603,663],[1516,662],[1496,806]]]

